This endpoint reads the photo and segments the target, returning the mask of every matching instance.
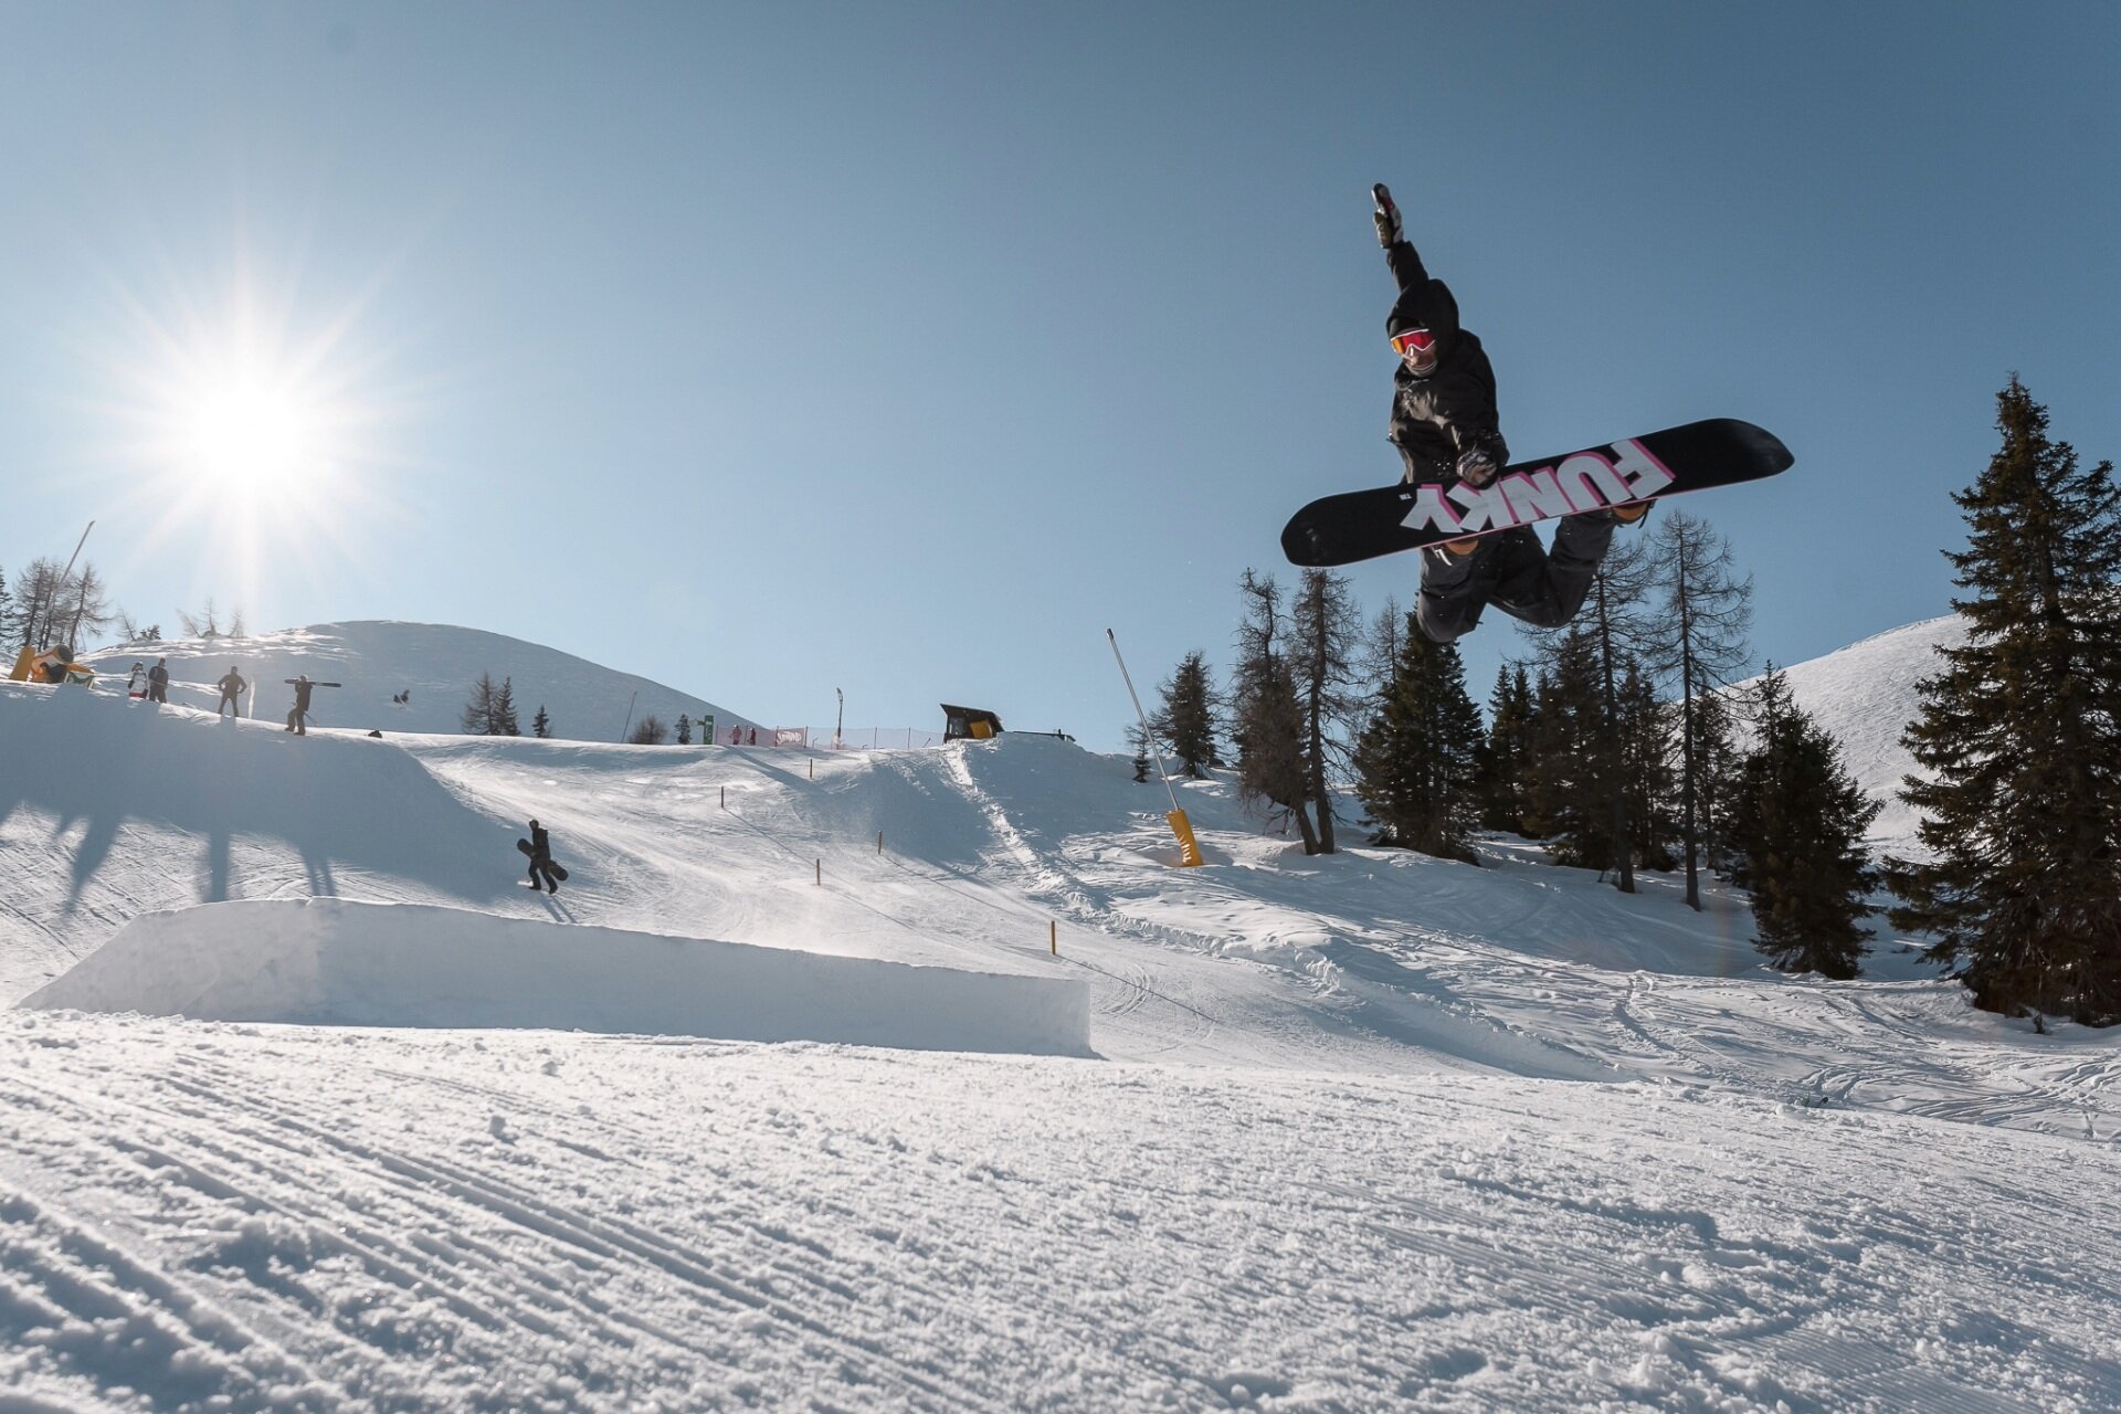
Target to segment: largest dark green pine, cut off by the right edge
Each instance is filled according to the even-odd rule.
[[[1917,685],[1900,797],[1930,856],[1894,861],[1898,929],[1934,937],[1979,1007],[2121,1022],[2121,490],[2081,471],[2013,375],[2002,447],[1953,496],[1966,642]]]

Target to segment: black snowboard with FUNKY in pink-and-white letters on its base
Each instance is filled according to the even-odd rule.
[[[1326,496],[1290,519],[1281,553],[1302,566],[1353,564],[1631,500],[1758,481],[1794,460],[1767,428],[1710,418],[1567,456],[1510,462],[1487,490],[1400,481]]]

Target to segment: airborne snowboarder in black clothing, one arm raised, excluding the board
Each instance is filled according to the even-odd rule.
[[[1370,195],[1377,242],[1400,282],[1385,335],[1400,356],[1391,375],[1391,445],[1406,464],[1406,483],[1491,485],[1510,462],[1495,411],[1495,369],[1478,335],[1459,326],[1451,286],[1432,278],[1408,244],[1391,193],[1379,182]],[[1648,513],[1644,502],[1567,515],[1553,551],[1540,547],[1531,526],[1423,547],[1415,621],[1432,642],[1470,634],[1489,604],[1536,628],[1561,628],[1584,606],[1612,528]]]

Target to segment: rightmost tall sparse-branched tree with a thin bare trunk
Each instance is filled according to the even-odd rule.
[[[1737,579],[1731,543],[1686,511],[1669,511],[1650,549],[1663,589],[1652,670],[1680,693],[1680,839],[1686,905],[1701,907],[1701,700],[1750,657],[1752,577]]]

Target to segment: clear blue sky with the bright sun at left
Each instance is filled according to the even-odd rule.
[[[1105,628],[1224,670],[1290,511],[1398,475],[1385,180],[1519,454],[1790,443],[1688,509],[1801,661],[1947,611],[2011,371],[2121,456],[2117,59],[2076,2],[8,4],[0,570],[93,517],[165,630],[1118,748]]]

